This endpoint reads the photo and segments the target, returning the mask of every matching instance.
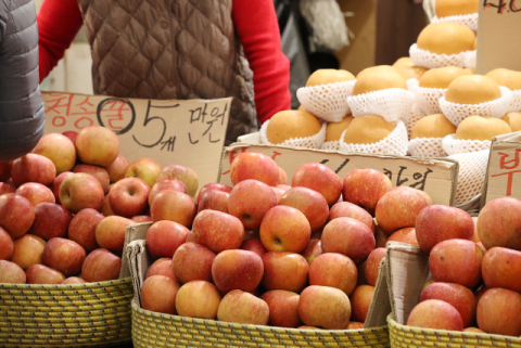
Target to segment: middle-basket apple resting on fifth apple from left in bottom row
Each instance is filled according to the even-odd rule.
[[[350,296],[357,280],[355,262],[342,254],[322,254],[309,266],[309,285],[335,287]]]

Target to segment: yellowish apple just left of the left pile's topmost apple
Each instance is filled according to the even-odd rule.
[[[74,143],[60,133],[49,133],[41,137],[33,153],[51,159],[56,167],[56,173],[68,171],[76,164]]]

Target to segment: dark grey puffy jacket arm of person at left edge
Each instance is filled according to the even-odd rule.
[[[0,0],[0,162],[29,153],[45,123],[35,3]]]

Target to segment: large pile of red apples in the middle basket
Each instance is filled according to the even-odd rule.
[[[147,249],[156,260],[140,291],[142,308],[242,324],[361,328],[385,256],[378,246],[396,231],[396,241],[416,241],[415,214],[431,203],[416,189],[393,189],[373,169],[342,180],[325,165],[305,164],[290,186],[259,153],[238,155],[230,176],[233,188],[201,189],[196,210],[164,193],[164,211],[178,216],[152,214]]]

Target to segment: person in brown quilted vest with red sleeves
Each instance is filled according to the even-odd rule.
[[[232,96],[227,145],[291,108],[290,63],[272,0],[45,0],[40,80],[82,24],[96,94]]]

